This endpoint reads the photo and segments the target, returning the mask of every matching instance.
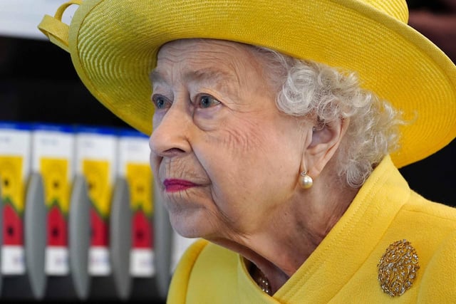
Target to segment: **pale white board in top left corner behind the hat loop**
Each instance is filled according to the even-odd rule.
[[[67,0],[0,0],[0,36],[47,39],[38,30],[43,16],[54,16]],[[72,5],[66,9],[62,21],[69,24],[78,9]]]

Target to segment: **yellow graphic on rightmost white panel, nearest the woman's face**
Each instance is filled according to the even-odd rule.
[[[153,212],[152,172],[148,164],[127,164],[126,178],[130,185],[131,209],[142,209],[147,216]]]

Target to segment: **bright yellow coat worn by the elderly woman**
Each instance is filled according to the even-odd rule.
[[[392,297],[380,288],[378,263],[391,243],[404,239],[415,248],[419,269],[410,289]],[[182,256],[167,303],[456,303],[456,209],[410,190],[385,157],[274,295],[252,281],[239,254],[199,240]]]

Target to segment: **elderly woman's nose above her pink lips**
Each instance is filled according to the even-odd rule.
[[[152,154],[172,157],[190,152],[188,138],[192,123],[190,114],[184,108],[174,104],[160,118],[157,116],[154,117],[154,130],[149,140]]]

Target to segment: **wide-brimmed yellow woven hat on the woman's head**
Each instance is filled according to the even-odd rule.
[[[67,26],[71,4],[80,6]],[[405,0],[73,0],[38,28],[71,53],[95,98],[147,135],[148,73],[168,41],[239,41],[356,71],[363,88],[413,121],[392,155],[403,167],[456,136],[455,65],[407,21]]]

